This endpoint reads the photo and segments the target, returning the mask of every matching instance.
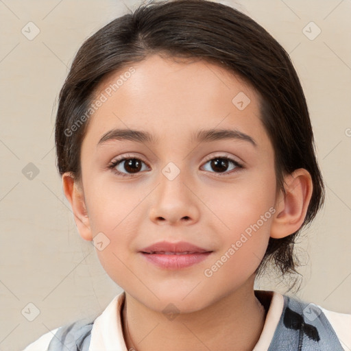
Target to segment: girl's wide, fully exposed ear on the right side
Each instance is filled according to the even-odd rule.
[[[302,226],[313,191],[311,174],[306,169],[296,169],[285,176],[284,187],[285,194],[279,191],[274,206],[270,235],[274,239],[287,237]]]

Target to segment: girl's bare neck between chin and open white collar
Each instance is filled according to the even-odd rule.
[[[252,281],[206,308],[171,320],[125,293],[121,319],[128,350],[227,351],[235,346],[246,351],[254,348],[261,335],[265,308],[254,294]]]

